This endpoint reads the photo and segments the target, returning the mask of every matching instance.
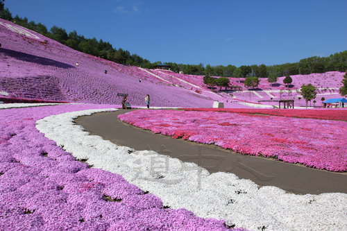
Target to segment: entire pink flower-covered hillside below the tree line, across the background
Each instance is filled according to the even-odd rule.
[[[117,94],[127,93],[128,102],[137,106],[144,105],[144,96],[149,94],[153,106],[209,108],[219,101],[227,108],[273,108],[277,103],[271,101],[278,99],[295,99],[296,105],[304,105],[298,91],[307,83],[318,88],[316,102],[321,103],[322,97],[341,97],[338,88],[344,73],[339,71],[291,76],[290,89],[282,84],[284,77],[278,78],[277,85],[261,78],[257,90],[244,88],[244,78],[230,78],[230,85],[243,91],[220,91],[204,85],[203,76],[120,65],[3,19],[0,35],[2,99],[119,104]]]

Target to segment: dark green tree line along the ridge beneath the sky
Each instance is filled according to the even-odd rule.
[[[90,55],[98,56],[106,60],[120,63],[122,65],[140,66],[145,68],[153,68],[161,62],[150,62],[139,55],[124,49],[116,49],[110,42],[103,40],[96,40],[85,38],[83,35],[78,35],[76,31],[67,33],[64,28],[53,26],[50,30],[41,23],[28,21],[26,17],[22,18],[12,14],[8,8],[3,7],[4,0],[0,0],[0,17],[8,21],[15,22],[20,26],[24,26],[32,31],[36,31],[46,37],[50,37],[62,44],[65,44],[72,49],[88,53]],[[203,64],[199,65],[185,65],[177,64],[175,62],[165,62],[171,66],[172,71],[183,71],[185,74],[194,75],[208,75],[208,76],[223,76],[223,77],[248,77],[257,76],[260,78],[267,78],[268,76],[288,76],[296,74],[311,74],[323,73],[325,71],[346,71],[347,70],[347,51],[332,54],[328,57],[312,56],[304,58],[299,62],[285,63],[282,65],[242,65],[235,67],[234,65],[228,66],[210,66]]]

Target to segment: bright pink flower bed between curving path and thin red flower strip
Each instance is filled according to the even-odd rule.
[[[119,119],[154,133],[216,144],[245,155],[347,170],[345,121],[178,110],[136,110]]]

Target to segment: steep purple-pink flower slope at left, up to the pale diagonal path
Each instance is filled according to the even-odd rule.
[[[0,19],[0,94],[12,98],[76,103],[210,107],[211,99],[127,67],[70,49],[55,40]],[[76,67],[78,62],[78,67]],[[105,74],[107,70],[107,74]],[[142,78],[141,83],[139,78]]]

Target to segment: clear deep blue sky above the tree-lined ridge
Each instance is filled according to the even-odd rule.
[[[347,50],[346,0],[6,0],[5,6],[151,62],[275,65]]]

